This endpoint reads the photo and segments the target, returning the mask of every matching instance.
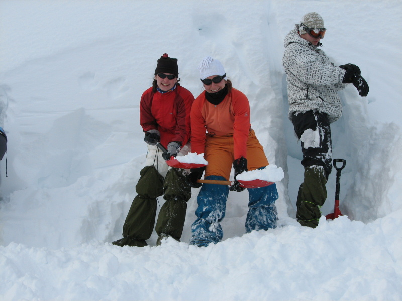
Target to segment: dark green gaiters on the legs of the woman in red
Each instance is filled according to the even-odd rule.
[[[151,237],[157,209],[157,197],[164,194],[155,231],[160,235],[172,236],[180,240],[183,232],[187,201],[191,197],[191,187],[185,183],[183,170],[171,168],[165,179],[154,166],[144,167],[136,185],[137,196],[131,204],[123,225],[123,238],[115,245],[146,246]]]

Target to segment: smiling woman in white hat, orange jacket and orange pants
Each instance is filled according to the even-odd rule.
[[[190,243],[207,246],[222,240],[220,222],[225,217],[226,200],[231,191],[243,191],[236,177],[247,170],[265,168],[269,163],[264,149],[250,124],[249,101],[242,92],[232,88],[225,69],[218,60],[206,57],[199,66],[205,91],[191,108],[191,151],[204,153],[205,168],[192,169],[187,176],[191,187],[202,186],[198,197],[196,221],[192,224]],[[205,179],[229,180],[234,168],[234,185],[196,183],[205,170]],[[276,227],[278,198],[276,185],[248,189],[249,211],[246,232]]]

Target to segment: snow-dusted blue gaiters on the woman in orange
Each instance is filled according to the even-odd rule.
[[[226,180],[222,176],[207,176],[209,180]],[[249,202],[246,218],[246,232],[276,228],[278,198],[276,184],[260,188],[248,188]],[[223,230],[220,222],[225,217],[226,200],[229,187],[218,184],[203,184],[198,197],[197,219],[191,226],[190,243],[199,247],[218,243],[222,240]]]

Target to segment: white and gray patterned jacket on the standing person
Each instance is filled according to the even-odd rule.
[[[344,89],[345,70],[335,67],[325,55],[297,33],[296,24],[284,41],[282,64],[287,75],[289,119],[293,112],[318,110],[328,114],[329,122],[342,116],[337,91]]]

